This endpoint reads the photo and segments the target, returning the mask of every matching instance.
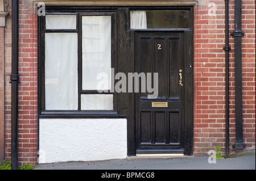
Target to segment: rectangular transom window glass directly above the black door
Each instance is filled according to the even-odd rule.
[[[189,28],[189,10],[130,11],[130,28]]]

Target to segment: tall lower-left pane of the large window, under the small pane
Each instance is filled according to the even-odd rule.
[[[77,33],[46,33],[46,110],[77,110]]]

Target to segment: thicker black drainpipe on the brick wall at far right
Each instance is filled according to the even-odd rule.
[[[245,148],[243,143],[243,121],[242,121],[242,0],[235,0],[234,6],[234,26],[231,33],[234,36],[234,60],[235,60],[235,98],[236,98],[236,143],[233,148],[236,152]]]

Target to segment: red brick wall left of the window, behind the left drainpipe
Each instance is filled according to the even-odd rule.
[[[19,117],[18,159],[36,164],[38,147],[37,125],[37,16],[36,6],[19,2]],[[9,3],[11,3],[9,1]],[[11,5],[10,5],[11,6]],[[9,11],[11,7],[9,6]],[[11,11],[10,11],[11,12]],[[6,159],[11,158],[11,16],[5,28],[6,47]]]

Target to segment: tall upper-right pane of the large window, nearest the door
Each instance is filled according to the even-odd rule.
[[[82,16],[82,89],[109,90],[110,68],[111,16]]]

